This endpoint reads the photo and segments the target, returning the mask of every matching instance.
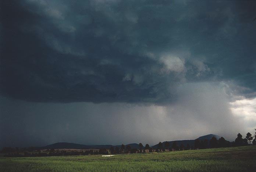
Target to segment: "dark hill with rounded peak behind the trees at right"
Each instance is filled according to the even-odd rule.
[[[216,137],[216,139],[218,140],[220,138],[220,136],[218,135],[213,135],[213,134],[209,134],[209,135],[205,135],[205,136],[201,136],[201,137],[198,137],[199,140],[211,140],[212,137]],[[193,147],[194,144],[195,144],[195,140],[175,140],[177,145],[178,146],[181,146],[181,144],[183,144],[185,147],[187,146],[187,144],[189,144],[190,147]],[[165,144],[166,141],[163,142],[163,146]],[[170,146],[173,145],[173,142],[174,141],[168,141],[170,143]],[[158,147],[158,144],[152,146],[153,148],[157,148]]]

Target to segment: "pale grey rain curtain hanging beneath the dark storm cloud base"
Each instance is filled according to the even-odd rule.
[[[238,132],[248,132],[244,121],[232,114],[228,97],[218,83],[185,84],[177,94],[175,103],[164,106],[33,103],[0,97],[0,147],[43,146],[61,141],[153,145],[209,133],[233,141]],[[12,115],[7,118],[3,114]]]

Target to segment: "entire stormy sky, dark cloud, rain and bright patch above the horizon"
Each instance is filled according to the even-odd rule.
[[[0,147],[256,128],[256,1],[1,0]]]

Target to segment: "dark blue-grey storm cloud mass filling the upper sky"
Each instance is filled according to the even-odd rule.
[[[177,99],[185,82],[255,95],[253,1],[1,1],[0,92],[42,102]]]

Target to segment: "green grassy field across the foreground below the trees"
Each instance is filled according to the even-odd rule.
[[[69,157],[0,158],[0,171],[255,171],[256,146]]]

